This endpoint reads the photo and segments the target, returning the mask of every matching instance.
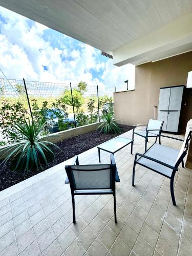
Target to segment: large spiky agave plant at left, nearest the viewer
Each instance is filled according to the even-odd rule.
[[[24,170],[24,172],[39,168],[42,163],[48,165],[47,155],[54,156],[50,146],[59,147],[46,140],[46,137],[50,135],[41,136],[44,132],[44,125],[45,123],[35,123],[30,120],[17,124],[16,135],[14,135],[16,142],[6,146],[4,153],[6,158],[2,164],[6,164],[8,160],[14,161],[14,169]]]

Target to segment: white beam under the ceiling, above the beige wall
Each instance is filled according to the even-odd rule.
[[[192,50],[192,13],[113,51],[113,64],[140,65]]]

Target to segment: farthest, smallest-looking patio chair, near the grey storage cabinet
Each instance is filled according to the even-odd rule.
[[[142,127],[142,126],[144,127],[146,126],[145,131],[144,130],[135,131],[136,127]],[[163,121],[153,120],[153,119],[148,120],[147,125],[134,125],[132,139],[134,140],[134,134],[137,134],[145,138],[145,151],[146,151],[148,137],[156,137],[155,142],[157,142],[157,137],[159,137],[159,144],[161,144],[160,135],[161,135],[162,126],[163,126]]]

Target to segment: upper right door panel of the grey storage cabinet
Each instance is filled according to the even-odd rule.
[[[183,86],[172,87],[170,89],[170,102],[168,110],[181,110],[182,96]]]

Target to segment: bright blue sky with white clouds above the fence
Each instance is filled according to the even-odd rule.
[[[113,65],[83,42],[0,7],[0,68],[9,79],[77,84],[102,89],[135,86],[135,67]],[[0,77],[3,74],[0,71]]]

